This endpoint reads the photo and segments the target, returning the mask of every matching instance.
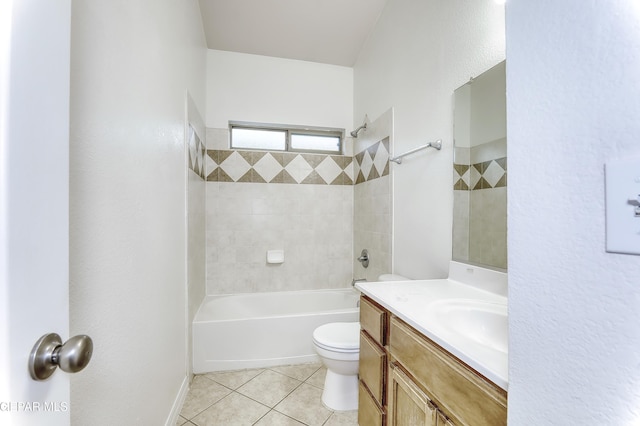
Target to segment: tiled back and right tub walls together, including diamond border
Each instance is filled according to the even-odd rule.
[[[225,149],[207,129],[207,294],[341,288],[391,272],[392,112],[351,155]],[[368,249],[363,268],[355,259]],[[283,249],[283,264],[267,250]]]

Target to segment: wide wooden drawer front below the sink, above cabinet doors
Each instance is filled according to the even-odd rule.
[[[391,355],[420,383],[454,423],[468,426],[507,424],[506,392],[393,317]]]

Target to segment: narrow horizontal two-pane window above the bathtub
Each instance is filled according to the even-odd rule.
[[[344,129],[229,122],[231,148],[342,153]]]

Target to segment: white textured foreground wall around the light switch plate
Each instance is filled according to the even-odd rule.
[[[507,2],[509,424],[640,423],[640,258],[605,252],[603,168],[640,157],[639,22]]]

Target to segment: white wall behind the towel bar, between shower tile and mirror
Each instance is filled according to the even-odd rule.
[[[395,154],[441,138],[395,167],[394,267],[447,275],[451,259],[453,91],[504,59],[493,0],[389,0],[354,67],[354,125],[394,108]]]

